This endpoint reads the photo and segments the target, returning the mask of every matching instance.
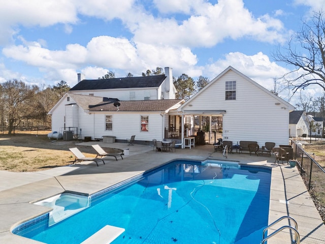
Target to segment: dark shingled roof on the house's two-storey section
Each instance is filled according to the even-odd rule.
[[[165,75],[152,75],[113,79],[82,80],[70,90],[159,87],[164,82],[166,77],[167,76]]]

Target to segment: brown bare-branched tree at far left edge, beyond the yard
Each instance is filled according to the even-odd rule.
[[[8,134],[12,134],[21,120],[34,111],[33,99],[38,92],[38,86],[30,86],[22,81],[9,80],[2,84],[3,106],[8,117]]]

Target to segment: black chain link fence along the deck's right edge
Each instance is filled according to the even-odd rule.
[[[300,175],[325,222],[325,170],[303,149],[303,144],[291,140],[291,145]]]

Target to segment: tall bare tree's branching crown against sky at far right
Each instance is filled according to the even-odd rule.
[[[278,62],[295,67],[282,77],[293,87],[294,93],[312,84],[325,90],[324,13],[314,12],[310,21],[303,21],[301,30],[290,38],[283,50],[278,47],[273,57]],[[293,75],[295,77],[291,78]]]

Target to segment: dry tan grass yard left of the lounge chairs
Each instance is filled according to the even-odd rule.
[[[75,158],[69,148],[76,147],[78,141],[51,140],[48,133],[0,134],[0,170],[32,172],[72,164]],[[78,148],[86,157],[95,156],[92,147]]]

